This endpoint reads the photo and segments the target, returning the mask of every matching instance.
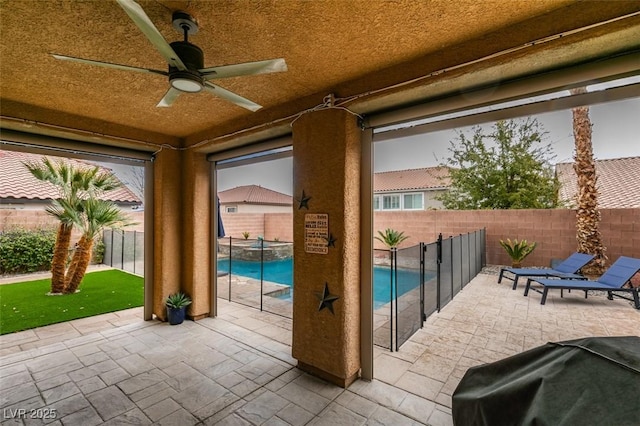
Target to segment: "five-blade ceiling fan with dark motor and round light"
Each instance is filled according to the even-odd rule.
[[[169,64],[169,71],[132,67],[129,65],[74,58],[72,56],[58,54],[52,54],[53,57],[64,61],[97,65],[123,71],[136,71],[167,76],[169,77],[169,90],[167,90],[164,97],[158,105],[156,105],[158,107],[171,106],[181,93],[198,93],[206,90],[250,111],[257,111],[262,108],[261,105],[217,86],[211,83],[210,80],[287,71],[287,64],[282,58],[205,68],[202,49],[195,44],[189,43],[189,35],[198,32],[198,24],[191,15],[182,11],[173,13],[173,27],[178,32],[184,34],[184,40],[167,43],[138,3],[133,0],[117,0],[117,2],[138,26],[140,31],[147,36],[149,41],[151,41],[160,54],[166,59]]]

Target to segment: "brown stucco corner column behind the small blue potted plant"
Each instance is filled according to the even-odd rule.
[[[183,291],[194,319],[210,311],[210,168],[204,154],[164,149],[154,161],[153,313]],[[149,285],[147,283],[147,285]]]

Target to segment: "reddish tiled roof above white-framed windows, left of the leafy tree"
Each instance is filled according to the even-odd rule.
[[[373,192],[433,190],[449,187],[448,167],[396,170],[373,175]]]

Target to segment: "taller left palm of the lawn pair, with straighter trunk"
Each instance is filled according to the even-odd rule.
[[[120,182],[99,167],[73,167],[61,161],[43,157],[42,162],[23,163],[38,180],[49,182],[59,193],[47,212],[60,221],[53,257],[51,259],[51,293],[62,293],[66,281],[67,259],[71,245],[71,232],[78,221],[80,202],[104,191],[120,186]]]

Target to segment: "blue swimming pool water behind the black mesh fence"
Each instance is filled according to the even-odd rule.
[[[229,272],[229,259],[218,260],[218,272]],[[260,262],[250,262],[246,260],[233,260],[231,262],[231,273],[244,277],[260,279]],[[377,309],[391,300],[389,288],[390,269],[376,266],[373,268],[373,304]],[[264,262],[263,279],[278,284],[292,287],[293,283],[293,259],[274,260]],[[428,277],[425,277],[428,279]],[[420,271],[413,269],[398,269],[398,295],[402,296],[409,290],[420,285]],[[293,289],[292,289],[293,290]],[[282,299],[291,298],[282,296]]]

